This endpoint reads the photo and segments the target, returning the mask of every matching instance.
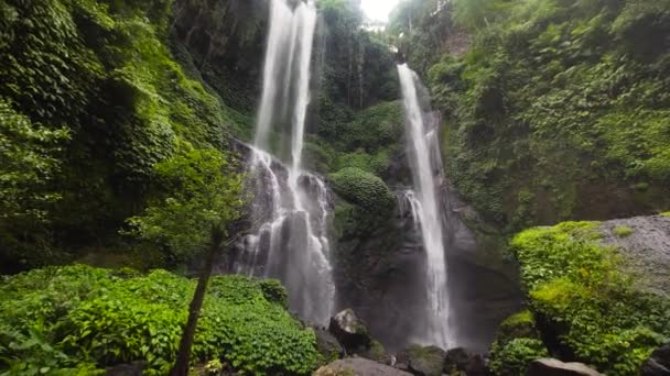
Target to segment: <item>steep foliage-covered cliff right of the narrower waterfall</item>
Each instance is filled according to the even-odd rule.
[[[507,231],[667,208],[669,5],[404,2],[391,30],[445,115],[458,192]],[[462,30],[472,46],[456,54],[445,41]]]

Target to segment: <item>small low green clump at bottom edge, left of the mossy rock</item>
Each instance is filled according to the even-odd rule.
[[[494,375],[526,375],[530,362],[547,357],[547,349],[537,339],[514,339],[507,343],[495,342],[490,350],[488,368]]]

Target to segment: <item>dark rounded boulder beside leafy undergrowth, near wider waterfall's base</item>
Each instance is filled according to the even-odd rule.
[[[339,341],[347,354],[368,350],[372,341],[367,325],[350,308],[331,318],[328,331]]]

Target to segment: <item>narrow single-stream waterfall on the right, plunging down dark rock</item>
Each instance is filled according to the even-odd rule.
[[[406,109],[406,136],[414,189],[404,195],[418,222],[426,253],[425,287],[429,305],[425,324],[419,340],[449,347],[450,298],[447,291],[443,215],[437,197],[442,183],[442,158],[437,137],[437,121],[424,113],[419,104],[419,77],[407,65],[398,66]],[[429,126],[426,126],[426,123]]]

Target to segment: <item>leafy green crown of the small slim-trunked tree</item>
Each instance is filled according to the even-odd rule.
[[[177,262],[197,255],[212,231],[240,215],[241,176],[228,155],[184,145],[181,154],[154,167],[163,190],[143,215],[128,220],[130,233],[166,246]]]

